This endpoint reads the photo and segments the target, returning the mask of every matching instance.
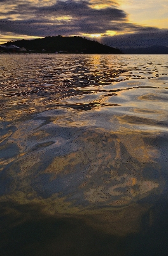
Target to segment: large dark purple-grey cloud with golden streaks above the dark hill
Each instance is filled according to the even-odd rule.
[[[57,1],[52,6],[36,7],[30,4],[18,4],[16,8],[6,13],[8,19],[1,20],[1,31],[20,33],[22,35],[57,35],[58,33],[105,33],[106,30],[120,31],[122,26],[113,22],[123,22],[127,15],[116,8],[95,10],[86,1]],[[28,20],[11,20],[10,15],[22,13],[29,15]],[[71,20],[58,20],[59,17],[68,16]],[[36,17],[32,19],[31,17]],[[51,20],[51,17],[54,18]],[[50,24],[50,26],[48,25]]]

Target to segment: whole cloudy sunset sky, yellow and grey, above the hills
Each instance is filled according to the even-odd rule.
[[[85,36],[114,47],[168,46],[167,0],[0,0],[0,44]]]

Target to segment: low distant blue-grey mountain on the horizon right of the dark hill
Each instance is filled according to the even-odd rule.
[[[168,54],[168,47],[161,45],[152,45],[146,48],[123,49],[125,54]]]

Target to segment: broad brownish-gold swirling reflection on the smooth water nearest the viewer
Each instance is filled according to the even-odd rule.
[[[32,123],[29,125],[31,127]],[[15,140],[18,138],[20,148],[19,138],[23,131],[24,126],[19,126],[13,134]],[[29,138],[41,140],[48,134],[43,130],[35,131],[32,136],[29,134]],[[13,192],[7,198],[18,204],[38,204],[43,214],[76,216],[108,234],[126,236],[139,232],[141,218],[152,206],[150,202],[139,204],[139,200],[151,194],[159,195],[164,188],[156,160],[159,152],[155,147],[146,145],[145,137],[148,137],[145,133],[127,130],[83,131],[71,142],[78,144],[78,150],[53,157],[45,170],[41,170],[41,161],[45,157],[43,151],[30,152],[27,156],[22,154],[9,169],[14,182]],[[143,170],[146,166],[157,169],[159,178],[145,178]],[[80,173],[80,177],[77,178],[76,173]],[[44,174],[50,175],[50,179],[46,180],[43,189],[47,193],[50,184],[53,188],[48,198],[38,195]],[[32,179],[37,180],[37,185],[32,185]],[[65,179],[66,185],[62,192],[55,193],[58,179],[60,182]],[[4,198],[6,196],[1,200]]]

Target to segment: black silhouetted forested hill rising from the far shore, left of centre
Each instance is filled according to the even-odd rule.
[[[121,54],[119,49],[82,38],[81,36],[46,36],[33,40],[18,40],[4,45],[14,44],[36,52],[75,52],[92,54]]]

